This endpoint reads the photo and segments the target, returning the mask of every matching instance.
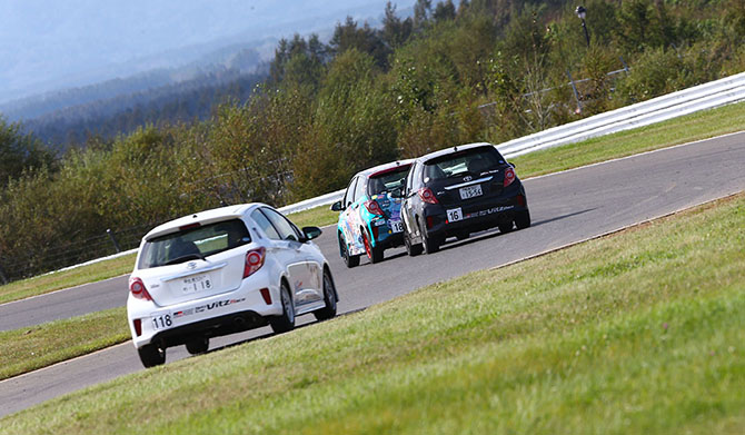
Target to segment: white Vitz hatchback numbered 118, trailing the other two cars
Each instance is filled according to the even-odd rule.
[[[336,316],[338,294],[328,261],[310,241],[317,227],[297,226],[264,204],[246,204],[169,221],[145,235],[129,278],[127,316],[146,367],[166,348],[207,352],[209,338],[295,317]]]

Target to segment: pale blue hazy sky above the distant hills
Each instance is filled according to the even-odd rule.
[[[414,0],[393,1],[398,10]],[[0,0],[0,101],[176,67],[220,45],[307,34],[386,0]],[[371,14],[371,16],[370,16]]]

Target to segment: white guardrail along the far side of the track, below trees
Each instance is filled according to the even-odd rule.
[[[497,145],[497,149],[505,158],[511,158],[743,100],[745,100],[745,72],[513,139]],[[345,189],[341,189],[306,199],[279,210],[291,214],[329,205],[341,199],[344,191]]]

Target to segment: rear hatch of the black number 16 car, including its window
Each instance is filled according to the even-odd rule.
[[[496,199],[510,166],[494,147],[456,151],[425,162],[425,185],[444,207],[470,207]]]

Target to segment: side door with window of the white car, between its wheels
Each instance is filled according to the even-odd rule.
[[[291,254],[288,256],[287,273],[290,276],[295,306],[300,314],[305,305],[324,298],[322,265],[314,259],[312,247],[301,241],[302,234],[289,219],[269,207],[262,207],[261,211],[279,234],[281,240],[277,243]]]

